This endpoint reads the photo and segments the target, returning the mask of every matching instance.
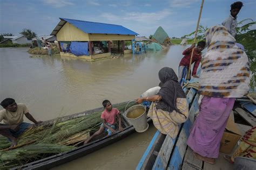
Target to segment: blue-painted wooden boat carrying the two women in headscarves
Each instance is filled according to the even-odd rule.
[[[157,131],[140,159],[136,170],[233,169],[233,165],[224,160],[224,153],[220,153],[219,160],[217,160],[214,165],[211,165],[196,159],[191,148],[187,146],[186,141],[190,134],[190,128],[194,122],[195,113],[199,110],[199,95],[197,94],[197,90],[193,88],[189,90],[185,88],[184,91],[187,93],[187,101],[190,103],[190,114],[187,121],[179,126],[178,136],[172,139],[170,136],[166,136]],[[248,109],[247,107],[247,110],[250,111],[250,108]],[[255,117],[253,118],[254,112],[246,112],[241,108],[236,108],[233,112],[240,115],[248,123],[248,125],[237,124],[241,132],[245,133],[245,131],[256,125],[256,119]]]

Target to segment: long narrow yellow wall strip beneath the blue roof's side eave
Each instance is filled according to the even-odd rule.
[[[107,40],[132,40],[135,36],[118,35],[118,34],[89,34],[90,41],[107,41]]]

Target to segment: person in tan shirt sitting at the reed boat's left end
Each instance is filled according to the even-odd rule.
[[[37,122],[30,115],[26,105],[22,103],[17,104],[13,98],[5,98],[1,105],[4,109],[0,110],[0,121],[2,121],[0,123],[0,134],[11,141],[11,146],[17,145],[17,137],[32,126],[30,123],[23,122],[24,115],[35,124],[42,122]]]

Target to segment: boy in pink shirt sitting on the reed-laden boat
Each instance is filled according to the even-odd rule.
[[[92,136],[90,136],[88,139],[84,141],[84,144],[89,143],[89,141],[98,136],[99,134],[106,132],[107,136],[110,136],[112,133],[116,132],[116,117],[118,118],[118,126],[119,131],[123,131],[122,125],[121,125],[121,117],[120,117],[120,111],[117,108],[112,108],[112,104],[109,100],[104,100],[102,102],[103,107],[105,110],[102,112],[102,118],[103,123],[100,125],[100,128],[97,132],[93,133]]]

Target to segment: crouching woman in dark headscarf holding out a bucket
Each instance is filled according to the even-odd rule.
[[[184,123],[188,117],[186,95],[179,86],[178,77],[172,68],[160,69],[158,76],[161,87],[158,94],[138,98],[137,102],[151,101],[147,116],[152,118],[154,126],[161,133],[175,138],[179,131],[178,125]]]

